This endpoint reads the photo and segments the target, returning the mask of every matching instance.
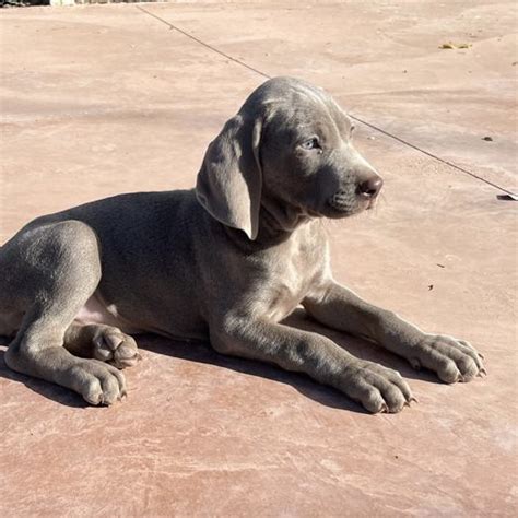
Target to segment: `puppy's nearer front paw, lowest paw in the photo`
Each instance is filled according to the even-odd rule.
[[[344,373],[344,392],[370,413],[400,412],[416,401],[397,370],[358,360]]]

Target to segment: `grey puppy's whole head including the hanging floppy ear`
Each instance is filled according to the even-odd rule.
[[[257,237],[261,204],[292,219],[344,217],[368,209],[382,180],[353,148],[353,129],[321,89],[291,78],[267,81],[209,145],[198,200],[250,239]]]

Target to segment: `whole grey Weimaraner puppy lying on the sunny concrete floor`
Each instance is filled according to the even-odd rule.
[[[126,395],[130,334],[210,340],[224,354],[306,373],[369,412],[414,398],[396,370],[284,326],[298,305],[448,384],[482,356],[338,284],[322,219],[373,207],[382,180],[329,94],[290,78],[258,87],[207,150],[196,189],[121,195],[38,217],[0,248],[0,334],[14,370],[92,404]]]

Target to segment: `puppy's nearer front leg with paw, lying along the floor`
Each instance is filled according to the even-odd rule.
[[[224,354],[274,363],[306,373],[361,402],[369,412],[399,412],[412,399],[396,370],[356,358],[317,333],[268,320],[227,318],[211,328],[213,348]]]

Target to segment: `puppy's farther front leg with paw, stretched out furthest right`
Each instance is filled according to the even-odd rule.
[[[326,326],[373,340],[409,360],[414,368],[436,372],[448,384],[470,381],[476,375],[485,374],[482,355],[468,342],[425,333],[331,280],[308,296],[303,305]]]

